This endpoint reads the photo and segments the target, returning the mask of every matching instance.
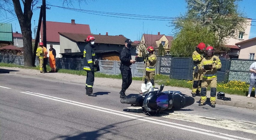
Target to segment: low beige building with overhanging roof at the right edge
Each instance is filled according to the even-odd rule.
[[[239,59],[256,60],[256,37],[236,43],[240,47]]]

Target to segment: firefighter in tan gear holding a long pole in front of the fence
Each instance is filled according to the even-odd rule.
[[[148,46],[147,51],[148,51],[147,52],[147,62],[146,62],[146,59],[144,60],[144,63],[147,63],[145,84],[147,84],[148,81],[150,81],[154,88],[155,87],[155,82],[154,82],[155,65],[157,63],[157,57],[154,54],[154,47]]]

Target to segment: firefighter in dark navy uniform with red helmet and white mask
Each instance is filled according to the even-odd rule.
[[[94,83],[94,72],[99,71],[99,60],[96,59],[94,48],[95,38],[92,35],[87,36],[87,45],[84,47],[84,70],[87,72],[86,76],[86,95],[97,96],[93,93],[93,83]]]

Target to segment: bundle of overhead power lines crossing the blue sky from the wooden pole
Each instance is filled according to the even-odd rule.
[[[49,4],[50,5],[50,4]],[[93,10],[84,10],[84,9],[76,9],[76,8],[69,8],[69,7],[61,7],[56,5],[50,5],[53,7],[59,7],[67,10],[77,11],[81,13],[88,13],[88,14],[94,14],[94,15],[100,15],[100,16],[109,16],[109,15],[117,15],[117,16],[109,16],[109,17],[117,17],[117,18],[126,18],[126,19],[140,19],[140,18],[134,18],[134,17],[142,17],[142,18],[150,18],[150,19],[140,19],[140,20],[161,20],[161,21],[174,21],[174,20],[202,20],[202,19],[193,19],[193,18],[177,18],[177,17],[165,17],[165,16],[147,16],[147,15],[136,15],[136,14],[125,14],[125,13],[112,13],[112,12],[102,12],[102,11],[93,11]],[[99,13],[99,14],[96,14]],[[108,15],[102,15],[102,14],[108,14]],[[128,16],[128,17],[120,17],[120,16]],[[231,19],[212,19],[212,20],[222,20],[222,21],[234,21]],[[245,20],[236,20],[236,21],[247,21]],[[255,20],[255,19],[251,19]],[[206,19],[207,21],[207,19]],[[210,19],[208,19],[210,21]],[[256,22],[256,21],[251,21]]]

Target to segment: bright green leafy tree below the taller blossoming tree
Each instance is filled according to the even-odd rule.
[[[170,53],[173,57],[191,57],[200,42],[215,45],[215,33],[192,21],[184,22],[181,31],[174,36]]]

